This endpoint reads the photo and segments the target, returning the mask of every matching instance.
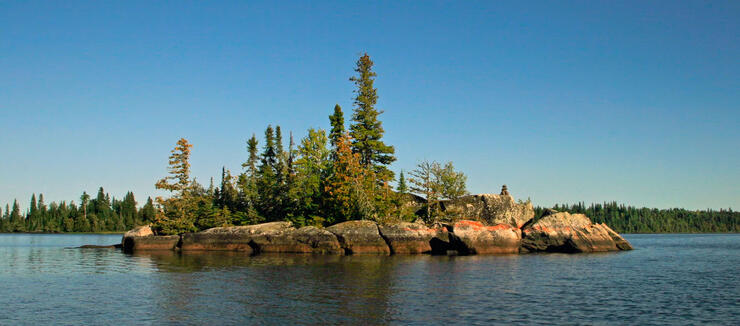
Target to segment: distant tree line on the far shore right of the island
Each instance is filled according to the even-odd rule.
[[[732,209],[686,210],[683,208],[637,208],[616,202],[558,204],[554,210],[582,213],[595,223],[605,223],[619,233],[713,233],[740,232],[740,212]],[[536,216],[545,209],[535,208]]]

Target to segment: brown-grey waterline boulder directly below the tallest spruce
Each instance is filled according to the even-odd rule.
[[[388,244],[380,236],[378,225],[372,221],[348,221],[334,224],[327,231],[333,233],[346,254],[391,253]]]

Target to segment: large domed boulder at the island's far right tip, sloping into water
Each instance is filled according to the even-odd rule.
[[[632,246],[605,224],[583,214],[556,212],[522,230],[522,252],[599,252],[631,250]]]

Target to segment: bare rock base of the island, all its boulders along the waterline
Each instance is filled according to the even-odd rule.
[[[180,235],[154,235],[149,226],[126,232],[124,251],[238,251],[244,254],[519,254],[605,252],[632,246],[605,224],[583,214],[550,210],[535,219],[531,203],[517,203],[504,189],[443,203],[465,216],[449,223],[347,221],[326,228],[291,222],[215,227]]]

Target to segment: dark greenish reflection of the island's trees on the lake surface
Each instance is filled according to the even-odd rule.
[[[239,252],[146,252],[159,272],[157,303],[167,320],[184,320],[182,311],[214,307],[225,321],[244,318],[268,324],[293,319],[302,311],[309,323],[355,323],[387,315],[394,273],[399,264],[419,257],[271,255]],[[217,273],[213,273],[217,271]],[[313,308],[312,308],[313,307]],[[306,314],[315,311],[321,313]],[[201,309],[202,310],[202,309]],[[187,318],[208,316],[188,316]]]

